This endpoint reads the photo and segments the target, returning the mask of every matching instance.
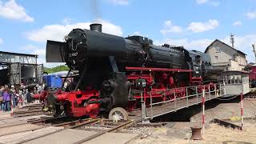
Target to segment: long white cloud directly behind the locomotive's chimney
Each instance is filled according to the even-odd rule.
[[[121,26],[116,26],[113,23],[98,20],[97,22],[102,23],[102,32],[106,34],[122,35]],[[26,38],[34,42],[46,42],[47,39],[54,41],[63,41],[66,34],[70,33],[70,30],[75,28],[90,29],[91,22],[77,22],[66,25],[47,25],[41,29],[32,30],[26,33]]]

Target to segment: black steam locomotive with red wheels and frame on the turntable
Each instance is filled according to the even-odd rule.
[[[123,114],[138,108],[142,95],[146,102],[150,97],[154,102],[171,99],[172,93],[161,91],[176,87],[181,89],[175,94],[184,97],[184,86],[209,84],[211,76],[222,71],[211,66],[207,54],[182,46],[155,46],[142,36],[105,34],[97,23],[90,30],[71,30],[65,42],[48,40],[46,62],[66,62],[78,71],[74,90],[47,94],[54,113],[74,117],[106,111],[111,118],[117,110]]]

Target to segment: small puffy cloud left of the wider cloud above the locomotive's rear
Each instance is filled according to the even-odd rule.
[[[167,33],[182,33],[182,27],[174,26],[170,20],[164,22],[164,28],[160,30],[162,34]]]

